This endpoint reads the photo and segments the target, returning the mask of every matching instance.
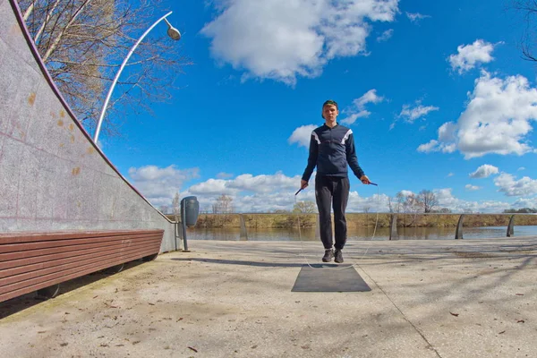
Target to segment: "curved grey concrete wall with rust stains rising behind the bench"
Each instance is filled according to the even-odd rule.
[[[175,230],[76,120],[41,62],[15,0],[0,0],[0,234]]]

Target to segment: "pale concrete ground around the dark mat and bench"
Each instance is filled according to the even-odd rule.
[[[0,303],[2,356],[537,356],[534,236],[350,242],[353,293],[291,291],[320,243],[189,248]]]

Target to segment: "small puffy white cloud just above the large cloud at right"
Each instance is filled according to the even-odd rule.
[[[490,55],[494,45],[482,39],[476,39],[472,45],[460,45],[456,47],[457,54],[450,55],[448,60],[451,68],[459,73],[473,69],[477,64],[488,64],[494,60]]]

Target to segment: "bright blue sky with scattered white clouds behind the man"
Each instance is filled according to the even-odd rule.
[[[193,64],[171,103],[129,116],[120,137],[101,134],[107,157],[156,207],[179,192],[202,210],[223,193],[239,212],[292,209],[331,98],[379,183],[377,198],[351,176],[348,211],[423,189],[454,211],[537,207],[522,14],[501,0],[340,3],[169,1]]]

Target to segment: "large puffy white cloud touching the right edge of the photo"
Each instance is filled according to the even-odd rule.
[[[537,90],[524,76],[502,80],[482,72],[468,97],[465,112],[456,124],[440,127],[439,140],[427,143],[429,151],[458,149],[466,159],[534,151],[527,136],[533,130],[531,121],[537,119]]]

